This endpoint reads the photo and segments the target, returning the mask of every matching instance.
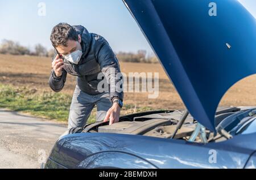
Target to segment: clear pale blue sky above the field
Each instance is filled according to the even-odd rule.
[[[38,15],[39,2],[46,4],[46,16]],[[256,17],[256,0],[240,2]],[[49,35],[60,22],[84,25],[104,36],[115,52],[152,52],[121,0],[0,0],[0,40],[18,41],[31,48],[40,43],[50,49]]]

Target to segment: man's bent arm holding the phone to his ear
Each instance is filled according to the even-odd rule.
[[[55,53],[55,59],[52,61],[52,71],[49,77],[49,87],[55,92],[60,92],[67,78],[67,71],[63,69],[63,61],[59,59],[59,55]],[[57,74],[57,75],[56,75]]]

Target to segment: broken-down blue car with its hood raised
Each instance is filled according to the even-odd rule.
[[[73,129],[43,168],[255,168],[256,107],[218,107],[256,74],[255,18],[235,0],[123,2],[186,109]]]

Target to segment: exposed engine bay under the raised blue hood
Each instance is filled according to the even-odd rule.
[[[102,121],[90,123],[82,128],[81,132],[143,135],[155,138],[182,139],[197,143],[221,142],[232,138],[231,135],[229,136],[228,132],[225,134],[222,129],[220,133],[217,132],[217,134],[205,128],[203,128],[203,131],[199,131],[197,126],[200,124],[193,119],[190,114],[185,117],[182,127],[176,130],[184,111],[185,110],[159,110],[124,115],[119,118],[119,122],[112,125],[108,125],[108,122]],[[216,127],[218,127],[225,118],[240,111],[242,110],[236,107],[219,107],[215,116]],[[222,132],[224,134],[222,134]],[[173,135],[175,137],[173,137]],[[192,138],[192,136],[194,137]]]

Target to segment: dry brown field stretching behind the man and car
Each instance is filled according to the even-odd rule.
[[[38,93],[51,91],[48,78],[51,71],[51,59],[44,57],[14,56],[0,54],[0,83],[14,86],[26,86]],[[159,72],[159,97],[148,99],[147,93],[125,93],[125,104],[133,105],[127,113],[136,107],[152,109],[183,108],[183,102],[168,80],[159,64],[121,62],[122,72]],[[76,79],[68,75],[62,92],[72,95]],[[221,105],[256,106],[256,75],[238,82],[226,93]]]

